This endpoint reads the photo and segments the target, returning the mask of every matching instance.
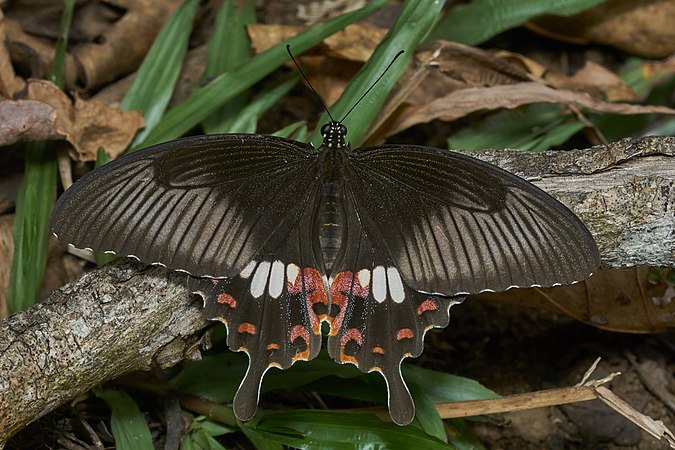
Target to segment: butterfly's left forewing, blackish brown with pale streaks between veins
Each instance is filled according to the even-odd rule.
[[[260,135],[159,144],[82,177],[59,198],[50,226],[75,247],[232,277],[295,226],[317,155]]]

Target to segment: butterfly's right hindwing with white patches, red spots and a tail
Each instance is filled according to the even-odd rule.
[[[463,298],[424,294],[402,280],[395,262],[381,252],[361,227],[356,200],[345,198],[345,242],[330,285],[328,353],[338,363],[382,374],[392,420],[415,417],[415,405],[401,375],[401,362],[417,357],[424,334],[445,327],[449,309]]]

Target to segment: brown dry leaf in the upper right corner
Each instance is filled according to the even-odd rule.
[[[675,2],[672,0],[609,0],[570,17],[546,16],[527,26],[545,36],[665,58],[675,53]]]

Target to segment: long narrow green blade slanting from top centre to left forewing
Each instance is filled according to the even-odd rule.
[[[175,139],[190,130],[223,104],[284,64],[288,60],[287,43],[293,47],[296,54],[302,53],[350,23],[373,13],[385,3],[387,3],[386,0],[375,0],[361,9],[315,25],[288,39],[287,42],[277,44],[260,53],[248,63],[218,76],[208,86],[167,112],[137,147],[146,147]]]

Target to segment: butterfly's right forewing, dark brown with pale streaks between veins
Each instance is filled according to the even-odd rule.
[[[350,155],[348,187],[374,244],[411,288],[455,295],[588,277],[595,242],[531,183],[454,152],[381,146]]]

